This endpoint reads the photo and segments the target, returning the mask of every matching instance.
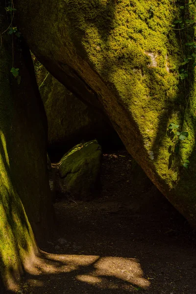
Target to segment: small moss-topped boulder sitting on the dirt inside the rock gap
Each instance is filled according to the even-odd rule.
[[[56,192],[68,199],[89,200],[98,194],[101,147],[97,140],[78,144],[58,163]]]

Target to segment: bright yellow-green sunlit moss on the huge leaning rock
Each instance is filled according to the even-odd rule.
[[[153,152],[154,169],[172,188],[178,171],[168,169],[171,140],[166,133],[170,122],[182,124],[186,107],[178,78],[182,50],[171,28],[179,11],[169,0],[78,3],[66,6],[76,48],[80,34],[86,58],[132,113],[147,153]]]

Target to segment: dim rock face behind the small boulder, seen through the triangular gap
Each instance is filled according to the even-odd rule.
[[[81,140],[104,140],[115,132],[106,116],[76,98],[42,65],[38,68],[35,63],[35,70],[48,118],[50,149],[70,148]]]

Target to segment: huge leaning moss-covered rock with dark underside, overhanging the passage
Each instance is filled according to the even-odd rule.
[[[37,58],[78,97],[102,105],[127,150],[196,226],[196,86],[179,78],[188,54],[185,44],[193,42],[194,32],[192,26],[180,34],[173,29],[180,14],[189,18],[187,6],[180,9],[175,0],[16,4],[19,24]],[[191,65],[188,72],[193,81]],[[178,153],[167,132],[170,123],[189,133]],[[183,167],[185,160],[189,169]]]

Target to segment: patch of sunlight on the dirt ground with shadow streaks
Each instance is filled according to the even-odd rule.
[[[100,289],[121,288],[132,291],[137,287],[147,289],[150,285],[150,282],[143,277],[143,270],[135,258],[41,253],[28,271],[32,275],[60,273],[62,276],[65,273],[66,278],[66,273],[72,272],[74,275],[75,271],[77,281]],[[31,284],[32,281],[29,280]]]

